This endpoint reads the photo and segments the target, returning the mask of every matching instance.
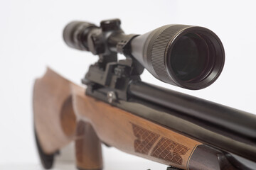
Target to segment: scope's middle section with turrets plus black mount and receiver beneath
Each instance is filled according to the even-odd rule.
[[[100,29],[92,30],[88,38],[88,48],[100,59],[91,65],[82,79],[87,85],[87,94],[107,88],[110,103],[116,98],[127,100],[127,88],[132,80],[140,80],[144,67],[134,60],[130,51],[131,40],[137,35],[125,35],[120,28],[119,19],[102,21]],[[117,61],[117,52],[124,54],[126,60]],[[111,95],[111,97],[110,97]]]

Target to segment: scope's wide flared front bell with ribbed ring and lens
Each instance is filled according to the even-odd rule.
[[[163,26],[139,35],[131,44],[133,56],[154,77],[186,89],[213,84],[224,66],[222,42],[203,27]]]

